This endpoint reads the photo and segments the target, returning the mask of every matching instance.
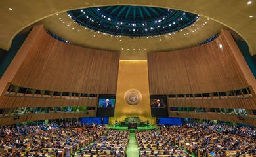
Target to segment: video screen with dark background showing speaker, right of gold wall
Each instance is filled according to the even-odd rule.
[[[150,96],[151,116],[168,117],[167,97],[165,95]]]

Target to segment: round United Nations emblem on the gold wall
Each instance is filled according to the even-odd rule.
[[[125,101],[129,105],[137,105],[141,101],[141,94],[138,90],[127,90],[125,92]]]

